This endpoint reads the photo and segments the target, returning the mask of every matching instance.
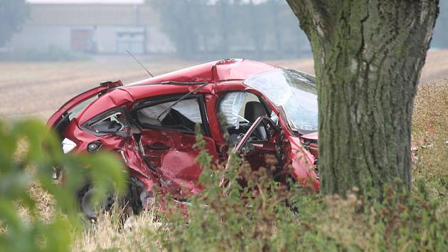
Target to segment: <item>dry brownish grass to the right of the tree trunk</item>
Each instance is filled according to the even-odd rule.
[[[424,179],[434,196],[448,197],[448,78],[421,85],[414,104],[413,177]]]

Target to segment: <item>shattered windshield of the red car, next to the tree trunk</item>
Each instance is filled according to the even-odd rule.
[[[282,106],[292,127],[302,132],[318,130],[316,84],[311,75],[279,68],[247,78],[245,85]]]

